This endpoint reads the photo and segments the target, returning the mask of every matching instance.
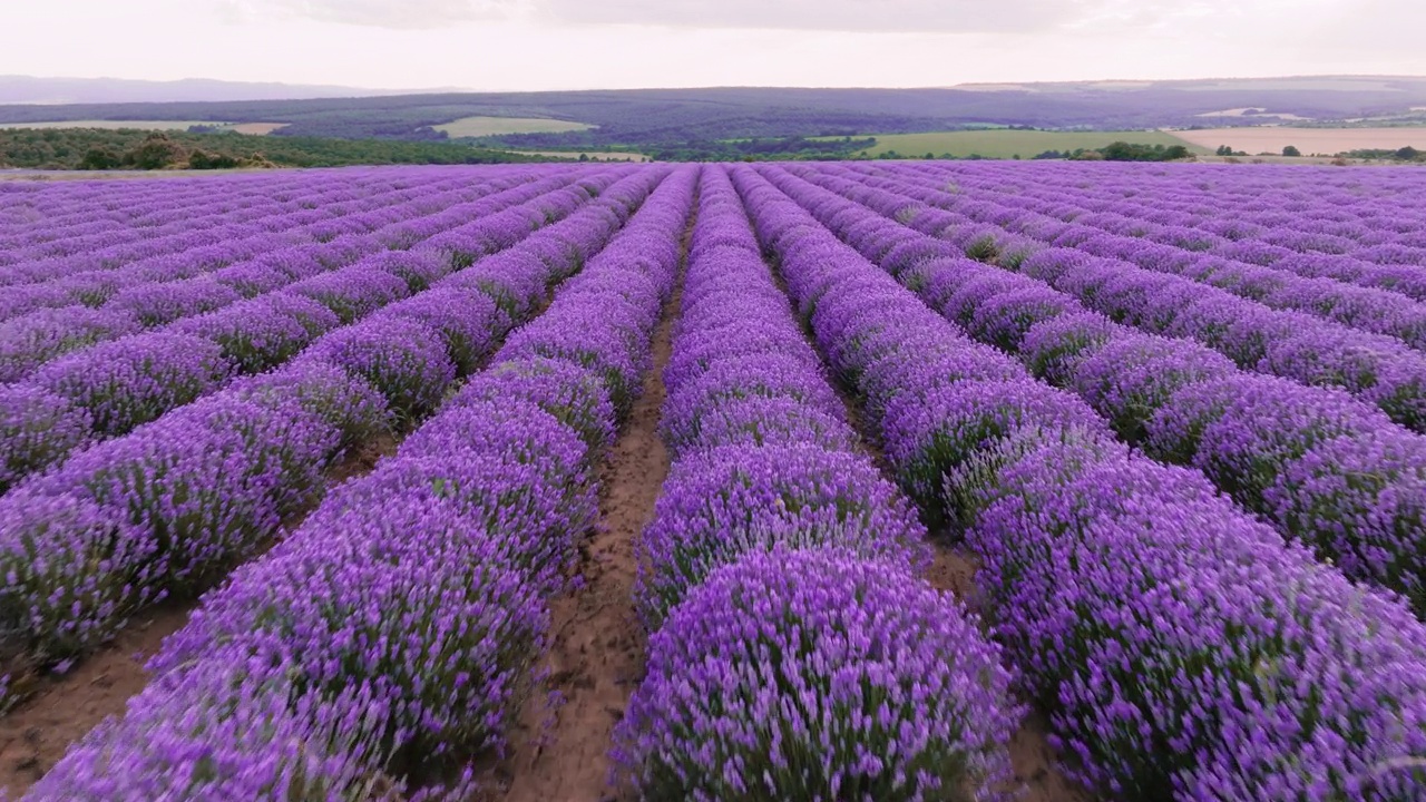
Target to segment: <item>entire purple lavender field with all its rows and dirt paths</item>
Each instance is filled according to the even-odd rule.
[[[0,183],[17,799],[1422,801],[1423,518],[1420,170]]]

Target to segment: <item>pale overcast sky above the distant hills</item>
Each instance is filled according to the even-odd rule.
[[[3,0],[0,74],[475,90],[1426,74],[1423,0]]]

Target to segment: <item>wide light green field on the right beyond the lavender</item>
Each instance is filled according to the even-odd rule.
[[[1192,153],[1212,153],[1186,143],[1165,131],[1012,131],[1008,128],[985,128],[980,131],[937,131],[931,134],[874,134],[876,147],[860,151],[858,156],[881,156],[896,151],[907,157],[951,154],[958,158],[984,156],[985,158],[1032,158],[1047,150],[1067,153],[1078,148],[1097,148],[1115,141],[1131,144],[1181,144]]]

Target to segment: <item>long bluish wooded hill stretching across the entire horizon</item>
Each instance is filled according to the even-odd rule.
[[[4,80],[0,78],[0,87]],[[1426,107],[1426,77],[1390,76],[965,84],[941,88],[719,87],[366,97],[314,96],[317,90],[361,91],[335,87],[180,83],[212,83],[227,87],[224,91],[247,93],[271,93],[278,91],[272,87],[281,87],[282,91],[292,93],[307,90],[308,97],[237,100],[208,94],[202,103],[0,106],[0,123],[262,121],[287,123],[274,136],[438,140],[446,134],[435,130],[435,126],[465,117],[540,117],[593,127],[563,133],[508,134],[482,141],[528,148],[655,148],[672,143],[726,138],[920,133],[985,124],[1142,130],[1189,126],[1216,128],[1298,118],[1326,123],[1412,114],[1413,108]],[[150,90],[154,90],[151,84],[145,91]],[[0,97],[4,97],[3,91]]]

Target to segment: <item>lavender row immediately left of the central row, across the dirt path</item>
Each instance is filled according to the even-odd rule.
[[[665,180],[395,458],[207,597],[124,721],[29,798],[466,798],[469,771],[451,778],[505,743],[593,524],[610,398],[649,362],[694,176]]]

